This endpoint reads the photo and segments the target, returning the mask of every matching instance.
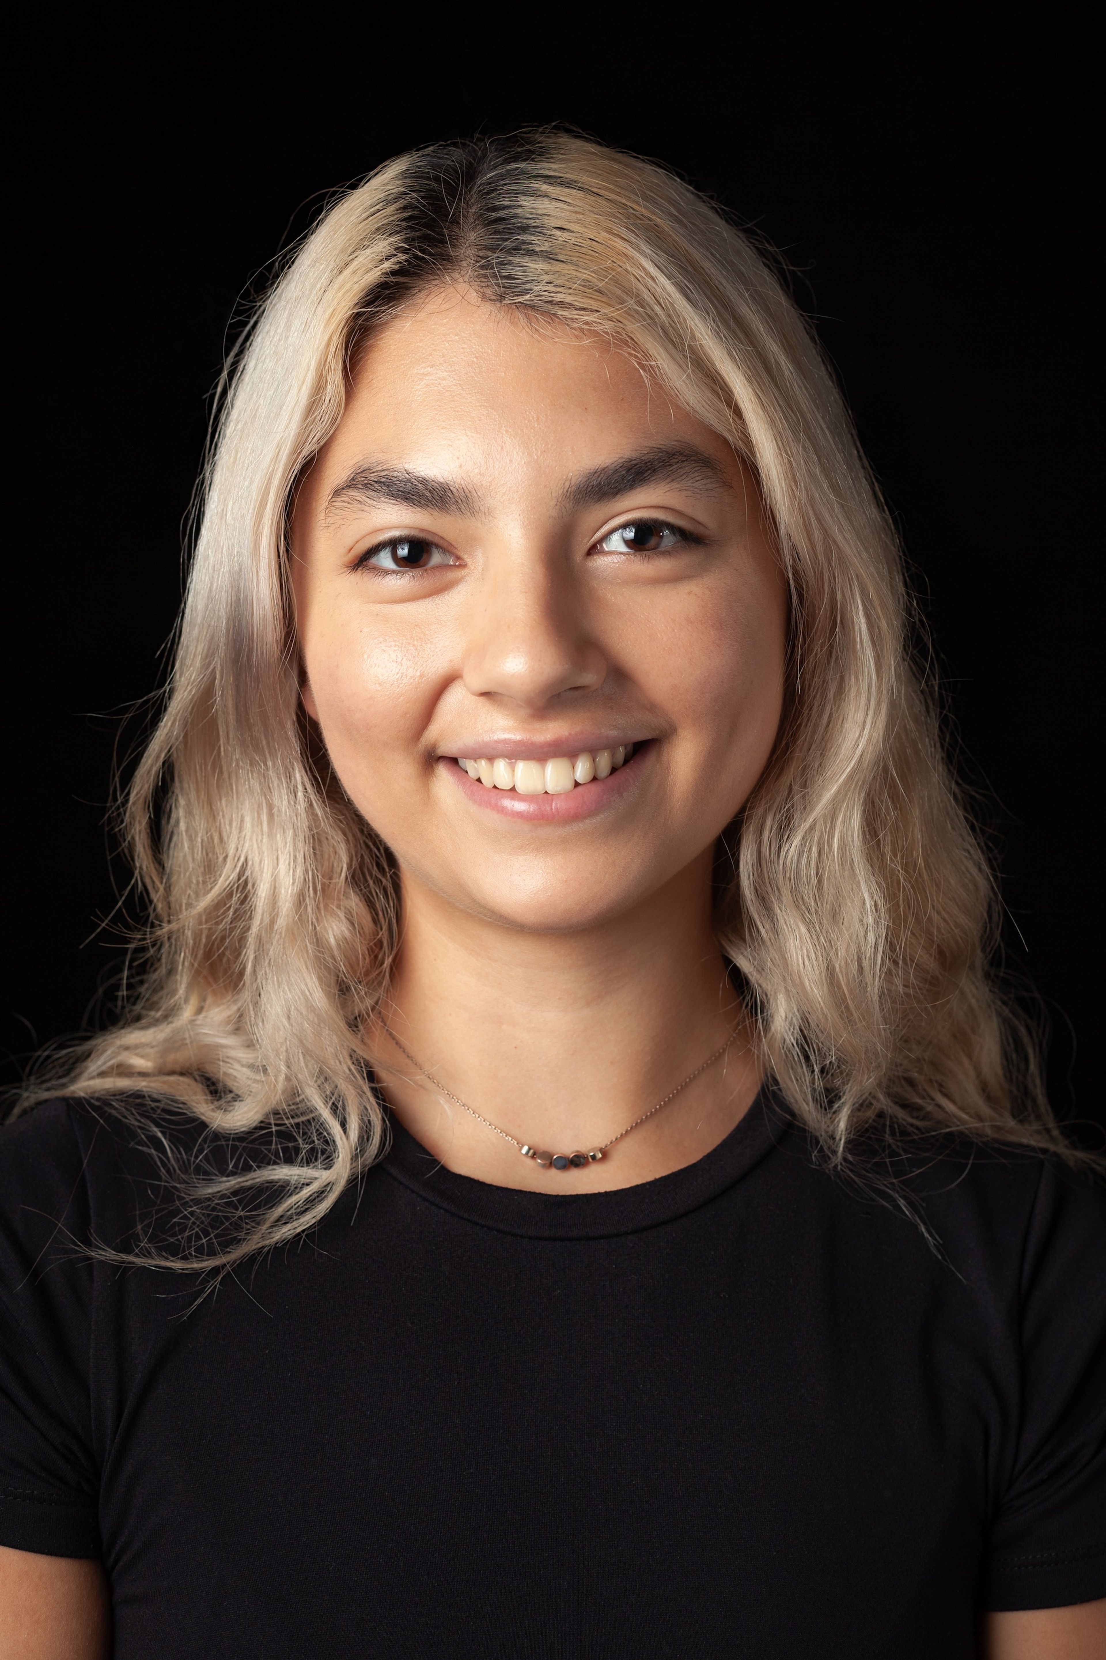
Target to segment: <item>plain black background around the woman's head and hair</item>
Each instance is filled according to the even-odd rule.
[[[327,189],[412,144],[568,121],[790,261],[902,530],[1005,953],[1064,1117],[1103,1120],[1089,42],[1055,8],[166,13],[27,43],[8,154],[7,1081],[103,1019],[116,745],[164,669],[228,324]],[[98,1006],[96,994],[100,991]],[[98,1013],[96,1013],[98,1008]]]

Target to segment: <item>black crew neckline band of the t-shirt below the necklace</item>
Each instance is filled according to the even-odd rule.
[[[428,1204],[500,1233],[604,1238],[639,1233],[699,1210],[747,1175],[782,1140],[790,1122],[779,1092],[766,1082],[729,1135],[681,1170],[601,1194],[535,1194],[447,1170],[389,1111],[392,1145],[379,1169]]]

